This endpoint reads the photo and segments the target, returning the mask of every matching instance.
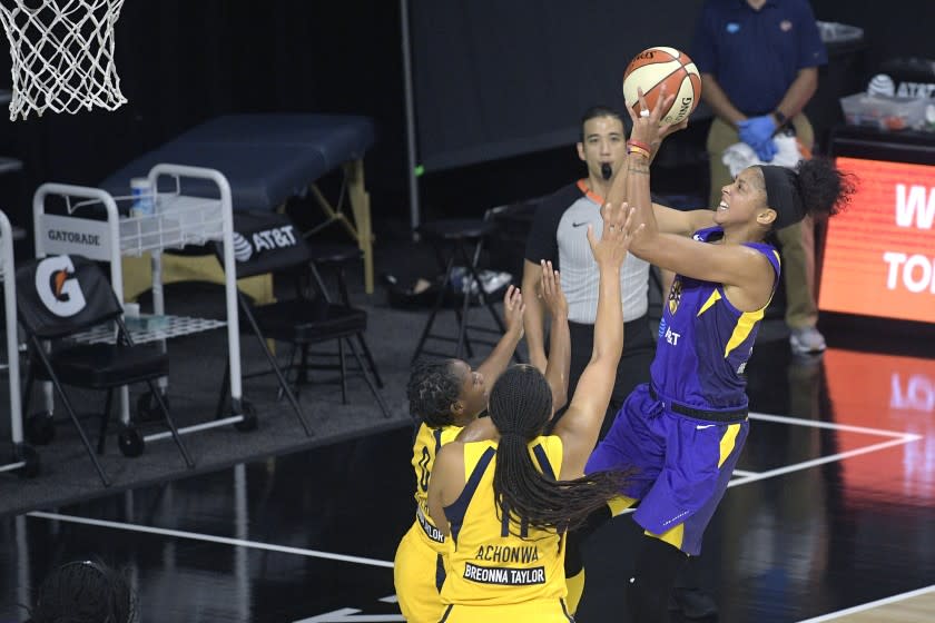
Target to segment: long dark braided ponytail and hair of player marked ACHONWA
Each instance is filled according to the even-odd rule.
[[[552,392],[533,366],[512,366],[493,385],[490,417],[500,433],[493,495],[498,515],[510,515],[511,532],[523,524],[541,530],[573,528],[618,495],[627,476],[623,472],[597,472],[573,481],[554,481],[539,472],[528,444],[542,434],[551,414]]]

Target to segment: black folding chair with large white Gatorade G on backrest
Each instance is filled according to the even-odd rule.
[[[168,356],[155,346],[134,345],[124,325],[120,301],[97,264],[79,256],[33,259],[17,269],[17,294],[19,323],[30,346],[27,388],[31,387],[36,378],[52,383],[104,486],[110,486],[110,481],[91,448],[88,435],[65,392],[65,385],[107,390],[98,438],[98,453],[102,453],[114,389],[145,382],[165,415],[185,463],[188,467],[195,466],[178,435],[169,408],[154,383],[159,377],[168,376]],[[105,323],[116,323],[115,344],[63,344],[69,336]],[[43,344],[46,342],[50,343],[50,349]],[[27,400],[29,393],[27,389]],[[136,439],[135,444],[136,449],[141,452],[141,439]]]

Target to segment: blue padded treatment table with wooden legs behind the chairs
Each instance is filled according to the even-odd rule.
[[[291,197],[308,190],[328,222],[341,222],[357,241],[364,254],[364,285],[372,293],[373,234],[363,158],[374,137],[373,120],[353,115],[227,115],[205,121],[139,156],[100,186],[114,196],[126,196],[130,179],[145,177],[154,165],[170,162],[224,174],[230,184],[235,210],[275,210]],[[353,221],[344,214],[344,192],[334,206],[315,185],[322,176],[338,168],[343,169]],[[198,184],[184,184],[183,194],[216,194],[210,185],[199,187]],[[179,280],[173,279],[168,268],[169,280]]]

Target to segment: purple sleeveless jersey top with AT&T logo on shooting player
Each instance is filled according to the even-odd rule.
[[[720,227],[698,230],[707,243]],[[770,245],[746,243],[761,253],[779,280],[779,254]],[[768,304],[767,304],[768,305]],[[764,310],[740,312],[724,294],[724,285],[676,275],[659,323],[659,343],[650,368],[653,388],[676,403],[698,409],[742,409],[747,406],[744,369],[754,350]]]

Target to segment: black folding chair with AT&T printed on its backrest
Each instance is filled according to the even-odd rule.
[[[295,228],[288,217],[275,212],[238,211],[234,216],[234,255],[237,259],[237,278],[252,277],[265,273],[293,273],[305,275],[311,268],[312,254],[308,244]],[[335,340],[338,346],[342,395],[346,400],[346,362],[344,347],[357,360],[364,380],[376,398],[385,417],[390,417],[383,396],[380,394],[371,368],[365,365],[354,339],[363,336],[367,327],[367,314],[363,309],[346,304],[328,300],[318,294],[308,297],[305,288],[296,287],[295,298],[277,300],[266,305],[253,305],[238,291],[240,309],[247,325],[260,344],[269,367],[276,375],[283,394],[292,404],[299,421],[305,422],[302,407],[293,388],[286,379],[283,368],[266,344],[267,339],[285,342],[307,353],[307,346]],[[354,338],[354,339],[352,339]],[[304,367],[311,366],[303,362]],[[335,368],[336,366],[327,366]],[[225,370],[226,384],[227,370]],[[223,404],[218,404],[218,409]],[[306,428],[307,433],[307,428]]]

